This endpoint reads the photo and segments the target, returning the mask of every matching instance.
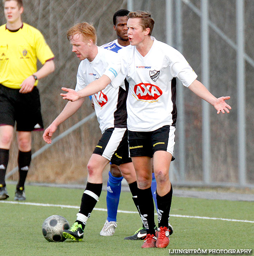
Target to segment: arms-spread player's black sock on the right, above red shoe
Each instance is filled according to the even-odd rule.
[[[169,218],[169,212],[171,207],[172,194],[173,194],[172,185],[171,185],[170,191],[164,196],[159,196],[156,191],[156,199],[157,199],[157,206],[158,206],[158,222],[159,222],[158,227],[168,226],[168,218]]]

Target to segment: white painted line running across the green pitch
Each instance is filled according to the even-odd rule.
[[[15,202],[15,201],[0,201],[0,203],[25,204],[25,205],[32,205],[32,206],[46,206],[46,207],[61,207],[61,208],[79,209],[79,206],[65,205],[65,204],[42,204],[42,203]],[[107,211],[107,209],[104,209],[104,208],[94,208],[94,210],[95,211]],[[117,212],[121,212],[121,213],[138,213],[137,211],[122,211],[122,210],[117,210]],[[154,215],[157,215],[157,213],[155,213]],[[189,216],[189,215],[179,215],[179,214],[170,214],[170,216],[171,217],[178,217],[178,218],[212,219],[212,220],[219,220],[219,221],[234,221],[234,222],[254,223],[254,221],[247,221],[247,220],[242,220],[242,219],[224,219],[224,218]]]

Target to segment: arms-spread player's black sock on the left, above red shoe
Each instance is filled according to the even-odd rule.
[[[138,188],[137,192],[139,212],[141,214],[143,224],[147,229],[147,234],[155,236],[154,205],[151,187],[146,189]]]

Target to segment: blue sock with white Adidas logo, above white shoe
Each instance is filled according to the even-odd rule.
[[[117,221],[117,208],[121,193],[121,182],[124,177],[113,177],[109,172],[107,180],[107,221]]]

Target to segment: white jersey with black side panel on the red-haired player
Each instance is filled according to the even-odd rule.
[[[82,60],[77,71],[76,91],[79,91],[95,79],[100,78],[116,53],[98,47],[98,54],[93,61]],[[121,79],[121,78],[120,78]],[[121,82],[123,79],[121,80]],[[107,128],[126,128],[126,92],[124,83],[118,83],[117,90],[108,85],[105,89],[92,95],[95,113],[102,133]]]

